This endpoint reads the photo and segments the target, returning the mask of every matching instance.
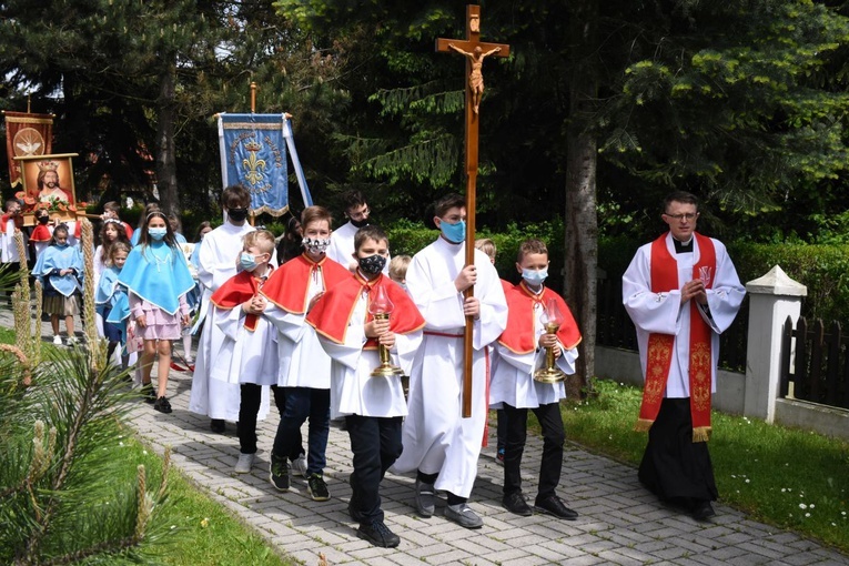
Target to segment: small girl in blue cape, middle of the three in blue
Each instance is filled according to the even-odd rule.
[[[108,360],[112,358],[118,344],[127,343],[127,320],[130,317],[130,300],[127,287],[118,282],[118,276],[130,255],[130,244],[114,242],[109,247],[105,266],[100,274],[100,282],[94,294],[98,314],[103,319],[103,336],[109,341]],[[129,356],[121,355],[121,365],[127,367]]]

